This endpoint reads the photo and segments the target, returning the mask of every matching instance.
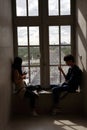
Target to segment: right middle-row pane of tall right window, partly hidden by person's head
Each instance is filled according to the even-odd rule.
[[[63,58],[65,55],[71,54],[71,46],[61,46],[61,63],[65,64]]]

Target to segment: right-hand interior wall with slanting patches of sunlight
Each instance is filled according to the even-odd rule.
[[[87,115],[87,0],[76,3],[76,45],[78,64],[83,69],[84,113]]]

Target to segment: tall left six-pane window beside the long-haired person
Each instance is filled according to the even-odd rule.
[[[26,82],[40,84],[39,27],[17,27],[17,34],[18,56],[23,60],[23,71],[27,71]]]

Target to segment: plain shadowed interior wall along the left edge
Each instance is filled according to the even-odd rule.
[[[0,130],[10,117],[13,35],[11,0],[0,0]]]

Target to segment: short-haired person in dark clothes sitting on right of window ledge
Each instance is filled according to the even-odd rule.
[[[75,92],[78,89],[78,86],[81,84],[82,79],[82,71],[81,69],[75,64],[75,59],[72,55],[67,55],[64,57],[64,61],[69,67],[68,73],[65,74],[63,69],[59,66],[58,69],[63,74],[65,78],[65,82],[52,85],[52,93],[53,93],[53,113],[57,113],[57,105],[59,103],[59,97],[61,92],[68,91],[68,92]]]

